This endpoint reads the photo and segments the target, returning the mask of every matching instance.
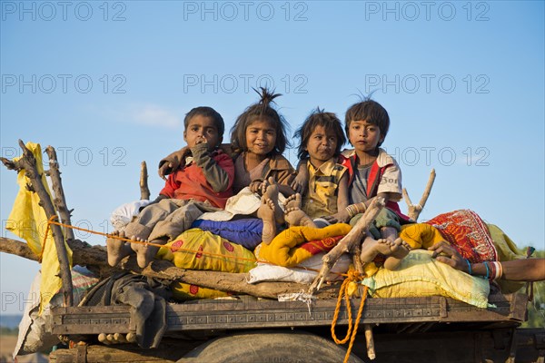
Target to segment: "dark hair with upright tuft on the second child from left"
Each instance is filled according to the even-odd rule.
[[[258,103],[250,105],[243,113],[241,113],[231,129],[231,147],[233,152],[245,152],[246,147],[246,129],[250,124],[256,120],[266,120],[274,124],[276,129],[276,142],[274,143],[274,149],[272,154],[280,155],[286,149],[286,146],[290,146],[290,142],[286,137],[286,129],[288,127],[283,116],[272,108],[271,103],[274,103],[274,99],[282,94],[274,91],[269,92],[267,88],[260,87],[260,91],[253,89],[261,96]]]

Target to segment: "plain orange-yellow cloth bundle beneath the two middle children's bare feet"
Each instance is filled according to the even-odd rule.
[[[290,227],[274,237],[271,243],[262,243],[259,257],[278,266],[297,266],[303,260],[307,260],[312,256],[309,250],[299,248],[299,245],[311,240],[344,236],[351,228],[349,224],[345,223],[336,223],[324,228]]]

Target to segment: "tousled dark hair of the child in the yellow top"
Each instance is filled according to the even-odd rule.
[[[297,152],[299,160],[307,159],[309,157],[306,145],[317,126],[322,126],[326,132],[332,131],[335,133],[335,136],[337,136],[337,147],[335,148],[334,156],[338,156],[341,153],[342,145],[346,142],[346,136],[342,131],[341,120],[339,120],[335,113],[326,113],[323,110],[320,110],[320,108],[316,108],[293,135],[294,137],[301,139]]]

